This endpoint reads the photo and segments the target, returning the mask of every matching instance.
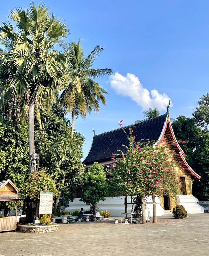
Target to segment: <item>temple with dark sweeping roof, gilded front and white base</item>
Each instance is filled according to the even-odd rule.
[[[133,128],[134,124],[124,127],[125,131],[129,133],[129,128]],[[200,176],[189,166],[184,157],[184,152],[177,142],[171,122],[169,119],[169,112],[159,117],[151,118],[138,122],[133,130],[133,136],[136,137],[136,142],[142,139],[149,139],[150,141],[159,141],[165,139],[170,144],[170,150],[175,152],[175,157],[180,162],[180,167],[175,167],[179,179],[181,179],[181,189],[176,199],[169,196],[156,197],[157,216],[170,213],[176,205],[183,205],[188,213],[204,213],[203,207],[197,204],[198,199],[192,195],[192,182],[194,179],[200,179]],[[124,131],[119,128],[96,135],[94,137],[88,156],[84,159],[83,164],[86,168],[98,162],[102,165],[112,162],[112,154],[118,154],[118,150],[126,153],[126,148],[123,145],[129,145],[128,138]],[[183,167],[183,168],[182,168]],[[130,200],[130,198],[129,198]],[[121,216],[124,213],[125,196],[120,197],[106,197],[105,201],[98,203],[99,210],[107,210],[112,216]],[[147,202],[152,202],[152,198],[148,197]],[[73,202],[69,202],[69,207],[66,210],[74,210],[79,208],[88,209],[85,203],[80,202],[79,198],[75,198]],[[131,211],[132,205],[128,205],[128,212]],[[153,216],[153,209],[151,204],[146,206],[146,215]]]

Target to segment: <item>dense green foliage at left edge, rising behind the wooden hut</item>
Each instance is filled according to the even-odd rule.
[[[0,117],[0,131],[0,180],[10,179],[23,193],[29,160],[27,124]]]

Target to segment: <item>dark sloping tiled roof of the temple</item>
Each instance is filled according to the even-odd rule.
[[[133,131],[133,136],[136,137],[136,142],[142,139],[157,141],[163,130],[166,117],[167,115],[162,115],[139,122]],[[133,126],[134,124],[124,127],[127,134],[129,134],[129,128],[132,128]],[[112,154],[119,153],[118,150],[126,153],[126,148],[122,146],[122,144],[128,146],[129,141],[121,128],[96,135],[93,138],[88,156],[82,163],[88,165],[95,161],[100,163],[109,161],[112,158]]]

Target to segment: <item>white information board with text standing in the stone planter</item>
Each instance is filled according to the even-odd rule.
[[[52,213],[53,192],[40,192],[39,214]]]

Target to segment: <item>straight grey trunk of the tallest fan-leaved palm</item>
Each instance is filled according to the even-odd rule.
[[[29,131],[29,175],[36,170],[36,165],[32,161],[32,153],[35,153],[34,146],[34,101],[30,100],[29,102],[29,111],[28,111],[28,131]]]

